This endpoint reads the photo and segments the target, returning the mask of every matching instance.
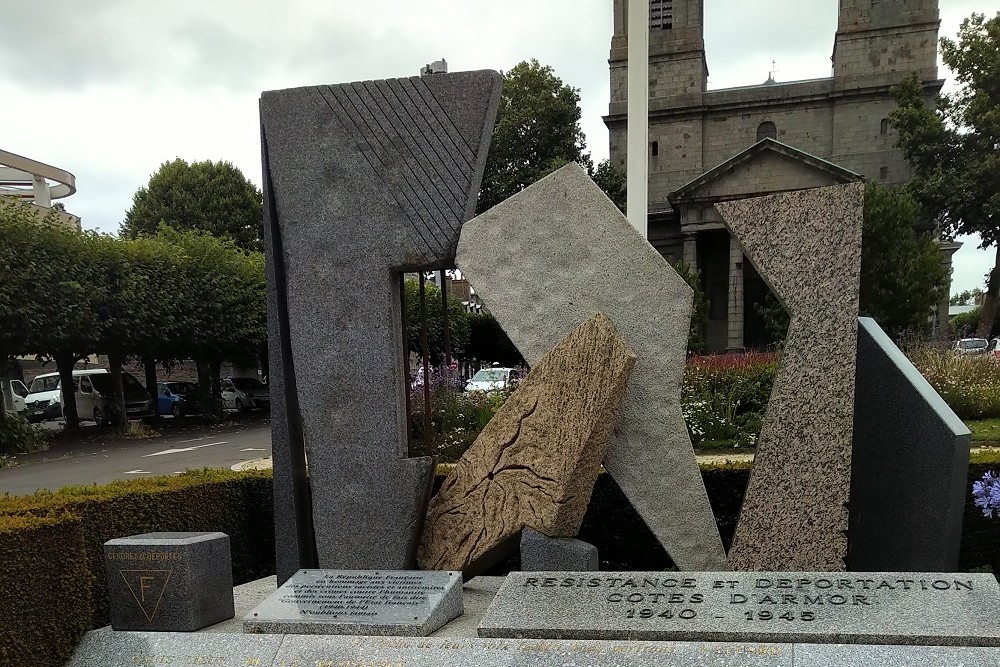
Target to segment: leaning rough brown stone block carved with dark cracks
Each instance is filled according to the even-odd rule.
[[[542,357],[431,500],[420,567],[472,575],[523,528],[576,535],[634,362],[601,314]]]

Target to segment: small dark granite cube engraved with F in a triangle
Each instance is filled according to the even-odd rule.
[[[104,543],[111,627],[192,632],[233,617],[224,533],[146,533]]]

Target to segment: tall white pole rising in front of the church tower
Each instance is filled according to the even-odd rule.
[[[628,2],[628,221],[647,238],[649,187],[649,0]]]

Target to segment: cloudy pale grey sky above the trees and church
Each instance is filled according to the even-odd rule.
[[[941,34],[996,0],[940,0]],[[117,230],[159,165],[229,160],[258,185],[262,90],[452,71],[536,58],[581,90],[595,159],[607,157],[611,0],[47,0],[3,2],[0,148],[74,173],[64,200]],[[713,88],[829,76],[837,0],[706,0]],[[943,77],[947,72],[942,70]],[[953,291],[992,255],[961,239]]]

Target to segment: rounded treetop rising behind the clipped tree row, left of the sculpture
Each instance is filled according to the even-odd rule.
[[[262,250],[262,195],[230,162],[164,162],[132,198],[121,235],[156,234],[160,223],[230,238],[244,250]]]

